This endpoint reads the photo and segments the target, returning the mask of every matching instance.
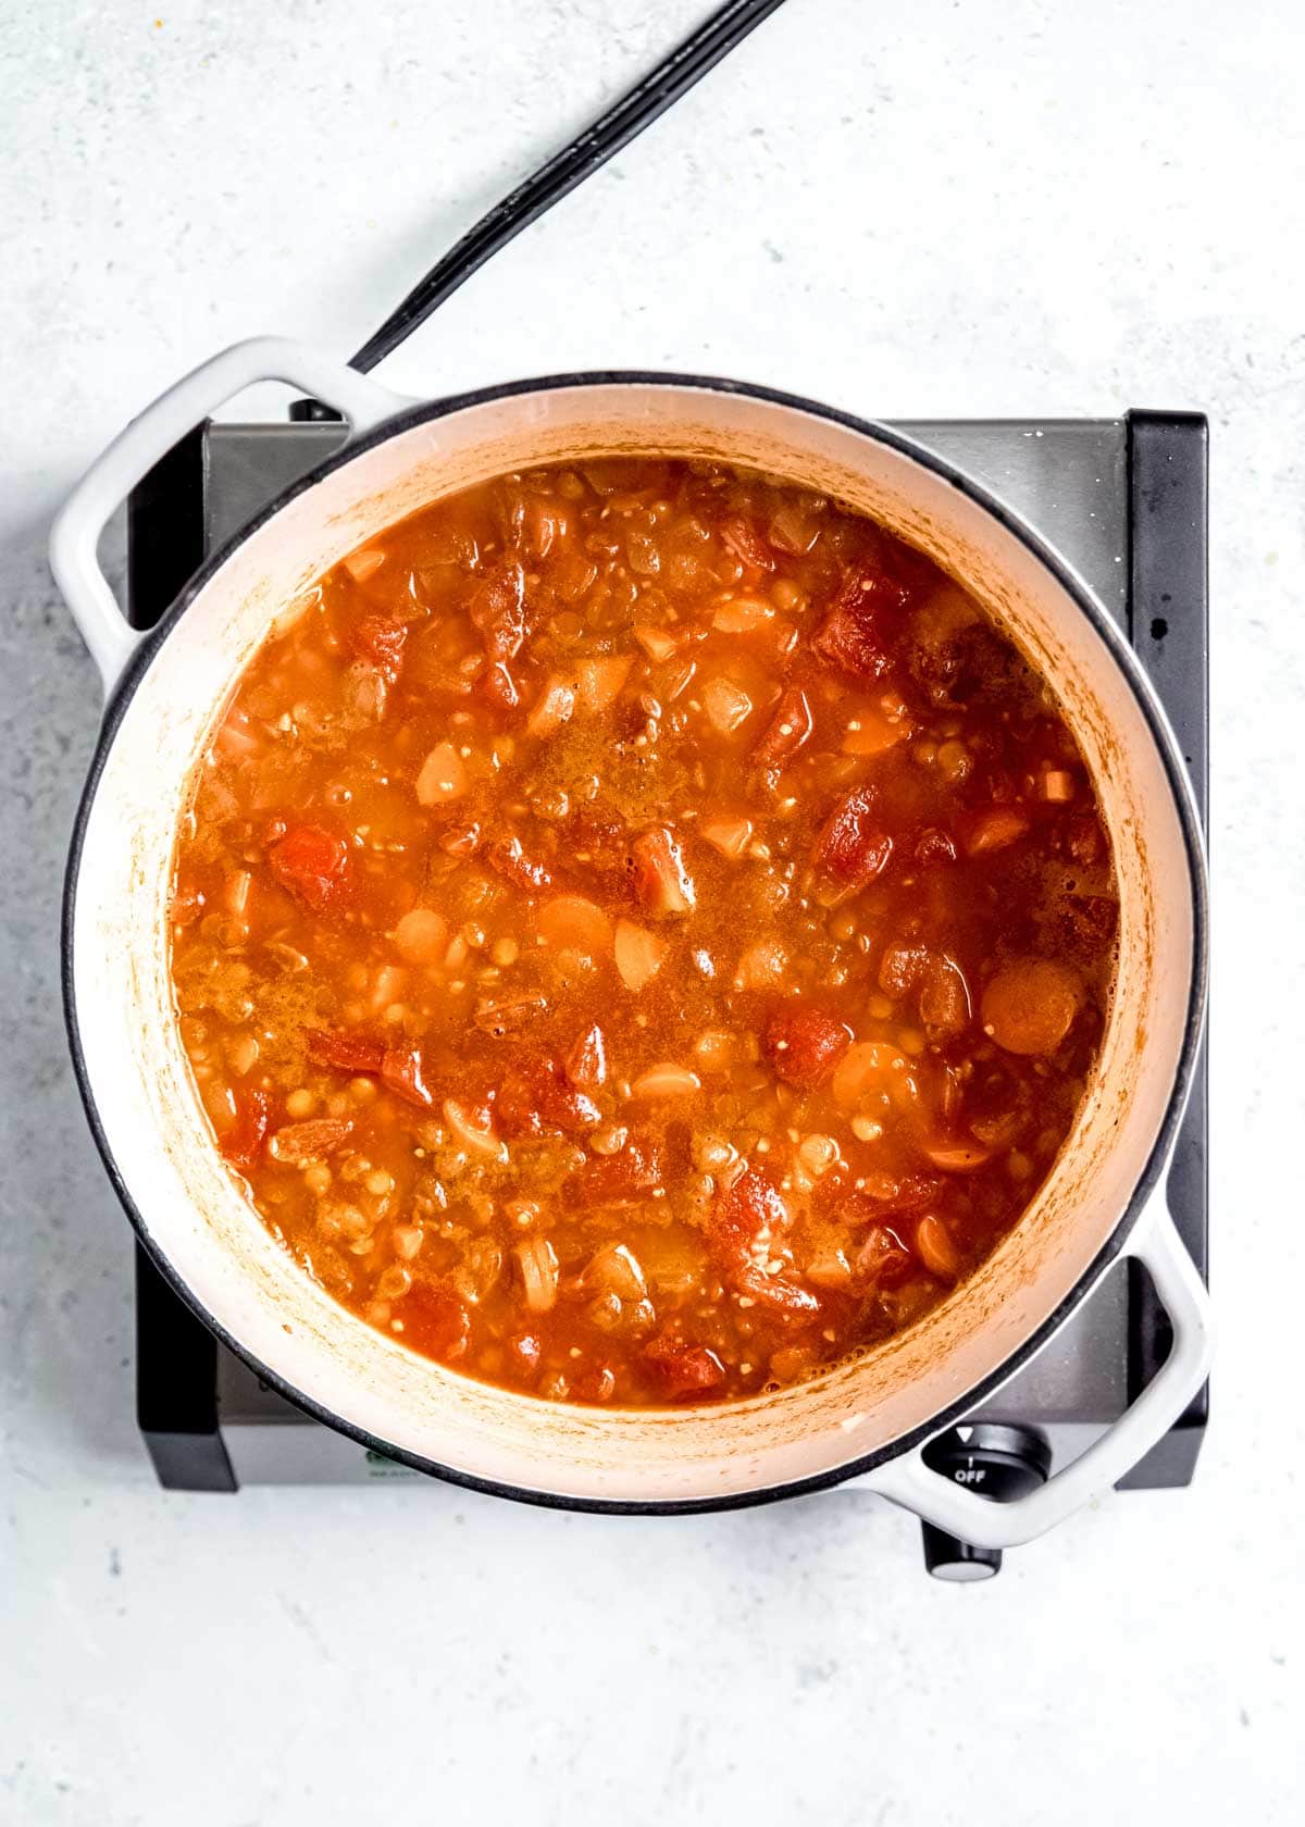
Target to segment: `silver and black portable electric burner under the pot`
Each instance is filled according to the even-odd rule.
[[[1128,634],[1173,725],[1201,811],[1206,797],[1206,424],[1188,413],[1117,420],[903,426],[1024,515]],[[203,559],[289,481],[342,442],[338,424],[207,424],[130,497],[128,594],[154,625]],[[1206,1067],[1197,1067],[1168,1177],[1177,1230],[1206,1273]],[[1003,1389],[928,1449],[936,1471],[996,1500],[1018,1496],[1088,1447],[1164,1361],[1170,1326],[1137,1262],[1117,1266]],[[1120,1487],[1190,1482],[1203,1389]],[[320,1425],[227,1352],[137,1251],[137,1414],[172,1489],[420,1478]],[[855,1480],[854,1480],[855,1484]],[[439,1500],[444,1487],[431,1484]],[[1000,1553],[925,1526],[945,1579],[981,1579]]]

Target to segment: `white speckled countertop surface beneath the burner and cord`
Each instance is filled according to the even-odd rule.
[[[163,16],[155,16],[155,5]],[[669,365],[879,417],[1201,407],[1214,462],[1215,1414],[950,1589],[852,1496],[601,1520],[161,1494],[55,906],[95,680],[51,510],[161,385],[345,353],[696,0],[0,16],[0,1822],[1301,1818],[1305,27],[1285,0],[790,0],[389,365]],[[656,18],[656,24],[652,24]]]

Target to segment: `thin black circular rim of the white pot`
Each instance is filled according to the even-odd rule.
[[[1088,618],[1095,632],[1102,639],[1111,660],[1124,674],[1133,698],[1146,720],[1148,731],[1155,747],[1159,751],[1161,762],[1164,766],[1164,775],[1170,784],[1173,804],[1179,817],[1179,826],[1183,833],[1183,850],[1188,864],[1188,892],[1192,897],[1192,983],[1188,988],[1188,1005],[1183,1025],[1183,1045],[1179,1051],[1179,1060],[1173,1072],[1173,1083],[1170,1087],[1170,1096],[1164,1107],[1164,1118],[1161,1122],[1159,1133],[1146,1158],[1142,1173],[1133,1186],[1131,1197],[1119,1217],[1119,1222],[1111,1230],[1109,1237],[1102,1248],[1093,1257],[1088,1270],[1078,1277],[1069,1294],[1045,1315],[1045,1319],[1029,1334],[1027,1339],[980,1379],[972,1389],[963,1390],[952,1403],[930,1416],[919,1427],[910,1429],[897,1440],[886,1442],[875,1447],[872,1452],[861,1454],[843,1465],[832,1467],[830,1471],[813,1473],[808,1478],[797,1478],[784,1484],[762,1485],[755,1491],[735,1491],[724,1496],[709,1498],[667,1498],[667,1500],[645,1500],[645,1498],[578,1498],[567,1493],[545,1491],[530,1485],[504,1484],[493,1478],[481,1478],[472,1473],[464,1473],[453,1465],[442,1465],[437,1460],[428,1460],[417,1452],[409,1452],[404,1447],[397,1447],[380,1436],[369,1432],[367,1429],[356,1427],[344,1416],[334,1414],[314,1396],[305,1394],[285,1376],[265,1365],[249,1346],[245,1346],[227,1326],[216,1319],[203,1303],[190,1292],[181,1275],[174,1270],[170,1259],[159,1244],[155,1244],[143,1213],[139,1211],[126,1180],[117,1166],[117,1158],[104,1133],[104,1125],[99,1116],[99,1105],[95,1100],[95,1091],[91,1087],[90,1071],[86,1067],[86,1056],[80,1043],[80,1027],[77,1018],[77,988],[73,974],[73,930],[75,930],[75,910],[77,910],[77,890],[80,879],[82,850],[86,842],[86,829],[99,793],[101,778],[104,775],[104,766],[108,755],[113,747],[117,731],[126,716],[126,711],[141,685],[141,680],[154,663],[157,652],[170,638],[172,630],[177,627],[181,616],[186,612],[190,603],[199,596],[201,590],[218,576],[230,555],[260,528],[263,528],[274,515],[278,515],[294,499],[307,493],[318,482],[322,482],[333,471],[353,462],[356,457],[369,449],[387,442],[391,437],[398,437],[411,431],[415,426],[430,424],[440,418],[448,418],[466,407],[484,406],[495,400],[517,398],[530,393],[552,393],[576,387],[682,387],[695,389],[702,393],[722,393],[738,395],[746,398],[762,400],[769,406],[790,407],[791,411],[806,413],[815,418],[830,420],[843,426],[848,431],[855,431],[865,438],[877,444],[885,444],[899,455],[918,462],[925,470],[932,470],[941,481],[949,482],[961,495],[972,501],[978,508],[989,513],[1007,533],[1018,539],[1025,550],[1053,576],[1060,588],[1069,596],[1075,607]],[[1009,508],[998,495],[992,495],[987,488],[969,477],[963,470],[952,464],[949,459],[939,457],[936,451],[928,449],[925,444],[918,444],[914,438],[894,429],[892,426],[879,424],[875,420],[861,418],[855,413],[844,413],[839,407],[824,406],[819,400],[810,400],[804,395],[786,393],[777,387],[766,387],[755,382],[729,380],[724,376],[706,376],[706,375],[680,375],[680,373],[660,373],[647,369],[589,369],[579,373],[561,373],[561,375],[541,375],[534,380],[510,380],[497,382],[488,387],[472,387],[464,393],[448,395],[439,400],[419,400],[409,407],[397,411],[391,418],[382,420],[373,426],[371,431],[358,438],[347,438],[340,449],[324,457],[322,462],[314,464],[303,475],[289,482],[278,495],[272,497],[245,526],[241,526],[230,539],[227,539],[218,552],[210,554],[203,565],[194,572],[186,585],[179,590],[177,597],[159,618],[154,628],[146,630],[135,650],[132,652],[122,674],[110,696],[104,709],[104,718],[95,740],[95,751],[91,755],[90,769],[86,775],[86,784],[82,787],[77,815],[73,820],[73,833],[68,851],[68,870],[64,875],[64,895],[60,910],[60,981],[62,981],[62,1001],[64,1001],[64,1029],[68,1032],[68,1047],[73,1061],[73,1076],[77,1080],[77,1089],[86,1111],[86,1120],[95,1140],[95,1147],[104,1162],[108,1178],[117,1193],[119,1204],[126,1211],[126,1217],[135,1231],[137,1241],[146,1250],[150,1261],[159,1270],[168,1288],[190,1308],[192,1314],[208,1328],[208,1332],[227,1346],[236,1357],[239,1357],[261,1381],[271,1385],[283,1396],[292,1407],[300,1409],[311,1420],[320,1421],[336,1432],[345,1434],[355,1440],[360,1447],[382,1454],[382,1458],[393,1460],[400,1465],[408,1465],[411,1471],[422,1473],[431,1478],[439,1478],[446,1484],[461,1485],[462,1489],[481,1491],[488,1496],[512,1498],[519,1504],[532,1504],[543,1509],[563,1509],[563,1511],[585,1511],[590,1515],[629,1515],[629,1516],[669,1516],[669,1515],[702,1515],[711,1511],[726,1509],[751,1509],[760,1504],[773,1504],[788,1496],[804,1496],[813,1491],[828,1491],[835,1485],[846,1484],[852,1478],[863,1476],[874,1467],[886,1463],[888,1460],[901,1458],[912,1449],[932,1440],[934,1434],[963,1420],[980,1401],[1000,1389],[1022,1365],[1025,1365],[1044,1345],[1060,1330],[1060,1326],[1069,1319],[1069,1315],[1082,1304],[1082,1301],[1098,1284],[1106,1270],[1120,1257],[1124,1242],[1137,1224],[1151,1191],[1161,1182],[1173,1142],[1177,1136],[1179,1122],[1188,1100],[1188,1091],[1192,1087],[1192,1076],[1195,1071],[1195,1060],[1201,1045],[1204,1003],[1206,1003],[1206,979],[1208,979],[1208,882],[1204,870],[1204,842],[1201,835],[1201,822],[1192,797],[1192,786],[1188,782],[1183,760],[1177,751],[1173,733],[1170,731],[1168,720],[1161,707],[1155,689],[1146,678],[1133,647],[1130,645],[1124,632],[1106,612],[1106,608],[1097,601],[1088,585],[1078,577],[1073,566],[1042,539],[1033,526],[1027,524],[1013,508]],[[526,1398],[536,1399],[536,1398]]]

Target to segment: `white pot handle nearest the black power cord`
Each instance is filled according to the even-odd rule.
[[[260,380],[285,380],[325,400],[358,437],[408,404],[378,382],[344,367],[289,336],[254,336],[223,349],[210,362],[161,393],[95,459],[49,530],[49,568],[73,621],[99,667],[108,698],[141,634],[117,607],[97,557],[99,537],[143,477],[186,431]]]

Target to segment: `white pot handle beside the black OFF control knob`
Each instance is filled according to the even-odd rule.
[[[1009,1502],[992,1502],[967,1485],[952,1484],[925,1463],[919,1447],[857,1482],[974,1547],[1018,1547],[1031,1542],[1117,1484],[1150,1452],[1201,1389],[1212,1343],[1210,1295],[1173,1228],[1164,1188],[1151,1195],[1124,1244],[1124,1255],[1135,1255],[1146,1264],[1170,1315],[1173,1345],[1137,1401],[1071,1465],[1053,1473],[1027,1496]]]

